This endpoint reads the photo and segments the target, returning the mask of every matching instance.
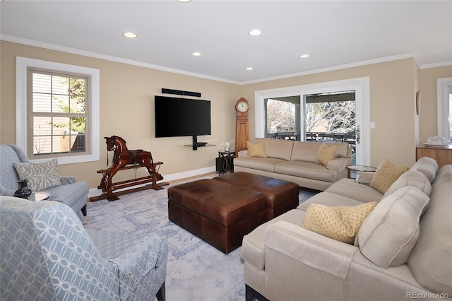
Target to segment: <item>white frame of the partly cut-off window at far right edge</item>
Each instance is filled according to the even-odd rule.
[[[449,134],[449,98],[448,86],[452,85],[452,77],[438,78],[436,80],[436,101],[437,101],[437,115],[438,115],[438,136],[444,137],[447,140]]]

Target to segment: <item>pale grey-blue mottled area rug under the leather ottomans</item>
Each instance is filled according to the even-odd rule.
[[[167,190],[150,189],[120,196],[118,201],[88,203],[83,225],[167,237],[167,300],[244,300],[241,248],[223,254],[169,221]],[[300,203],[313,195],[300,190]]]

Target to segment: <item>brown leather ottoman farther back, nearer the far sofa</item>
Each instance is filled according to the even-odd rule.
[[[232,172],[215,177],[217,182],[226,182],[232,187],[244,187],[259,191],[267,196],[267,220],[297,208],[299,205],[299,185],[282,179],[273,179],[248,172]]]

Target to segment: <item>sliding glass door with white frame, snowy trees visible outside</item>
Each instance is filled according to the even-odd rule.
[[[362,83],[257,91],[256,137],[347,142],[353,150],[352,163],[369,165],[369,127],[362,126],[369,114],[368,81],[358,80]]]

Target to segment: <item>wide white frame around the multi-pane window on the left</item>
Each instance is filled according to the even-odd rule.
[[[42,61],[40,59],[30,59],[27,57],[16,58],[16,145],[27,150],[27,76],[28,68],[47,69],[59,71],[61,73],[85,74],[90,78],[90,153],[83,155],[59,156],[58,164],[83,163],[100,160],[100,79],[99,69],[75,66],[69,64],[55,63],[53,61]],[[32,162],[40,162],[48,159],[32,159]]]

